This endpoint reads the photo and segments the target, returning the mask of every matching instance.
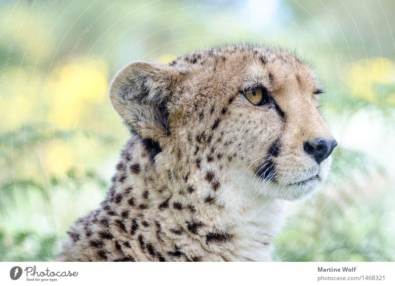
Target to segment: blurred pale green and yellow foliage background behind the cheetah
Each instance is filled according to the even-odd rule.
[[[312,63],[339,147],[290,203],[278,261],[395,261],[395,1],[0,1],[0,261],[51,261],[104,198],[129,133],[109,82],[235,41]]]

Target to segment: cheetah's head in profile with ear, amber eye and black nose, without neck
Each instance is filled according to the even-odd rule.
[[[256,194],[296,200],[325,180],[337,145],[318,109],[321,92],[293,54],[239,45],[169,65],[133,62],[110,97],[135,132],[170,150],[180,171],[219,168]]]

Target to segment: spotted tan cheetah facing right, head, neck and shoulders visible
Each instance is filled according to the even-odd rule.
[[[270,261],[284,201],[325,180],[337,142],[312,69],[246,44],[135,61],[110,87],[131,137],[60,261]]]

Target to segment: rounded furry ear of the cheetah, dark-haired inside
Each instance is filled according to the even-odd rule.
[[[166,105],[177,75],[172,67],[135,61],[124,67],[111,83],[114,108],[143,138],[160,142],[166,137]]]

